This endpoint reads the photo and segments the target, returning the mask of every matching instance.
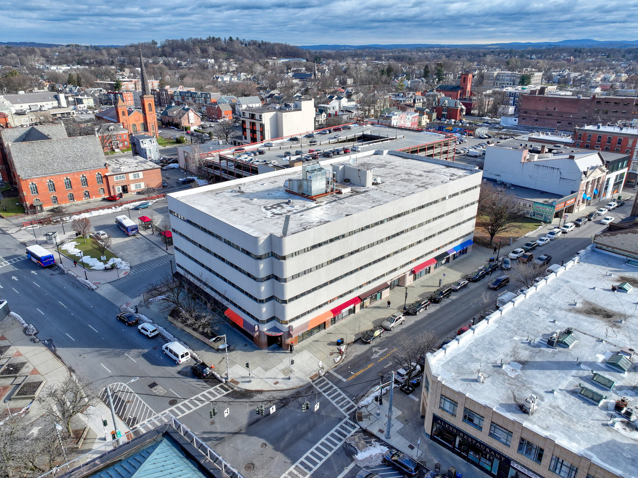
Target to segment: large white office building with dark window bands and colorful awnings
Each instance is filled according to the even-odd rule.
[[[177,271],[286,348],[471,250],[481,177],[366,151],[172,193]]]

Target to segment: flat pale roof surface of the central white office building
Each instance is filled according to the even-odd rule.
[[[480,173],[478,168],[463,163],[424,156],[406,158],[395,151],[379,152],[382,154],[367,151],[319,161],[323,167],[331,169],[332,164],[349,165],[352,156],[357,158],[358,167],[373,168],[373,177],[380,177],[382,183],[369,187],[347,184],[352,192],[321,197],[316,202],[289,193],[283,187],[286,179],[301,178],[301,167],[178,191],[170,197],[255,237],[281,235],[285,216],[290,214],[287,235],[292,235]],[[240,185],[242,192],[237,189]]]

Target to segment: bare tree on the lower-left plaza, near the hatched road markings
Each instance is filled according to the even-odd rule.
[[[69,437],[73,417],[86,414],[87,407],[100,400],[93,382],[84,375],[70,375],[57,384],[48,385],[42,398],[45,418],[63,425]]]

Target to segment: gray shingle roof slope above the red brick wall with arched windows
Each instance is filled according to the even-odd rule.
[[[95,135],[8,145],[15,172],[22,179],[104,168],[104,153]]]

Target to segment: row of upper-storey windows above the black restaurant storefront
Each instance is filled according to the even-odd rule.
[[[441,394],[441,399],[439,401],[439,408],[441,408],[441,410],[445,410],[445,412],[456,417],[457,407],[458,403],[456,401]],[[483,430],[484,417],[477,414],[477,412],[473,412],[469,408],[463,408],[463,421],[474,428],[481,431]],[[489,436],[508,447],[512,445],[512,432],[494,422],[491,422],[489,425]],[[543,456],[545,454],[545,450],[542,447],[523,437],[519,439],[517,452],[532,461],[535,461],[539,465],[542,463]],[[553,455],[549,463],[549,471],[554,472],[563,478],[574,478],[578,468],[565,459],[558,458],[558,456]]]

